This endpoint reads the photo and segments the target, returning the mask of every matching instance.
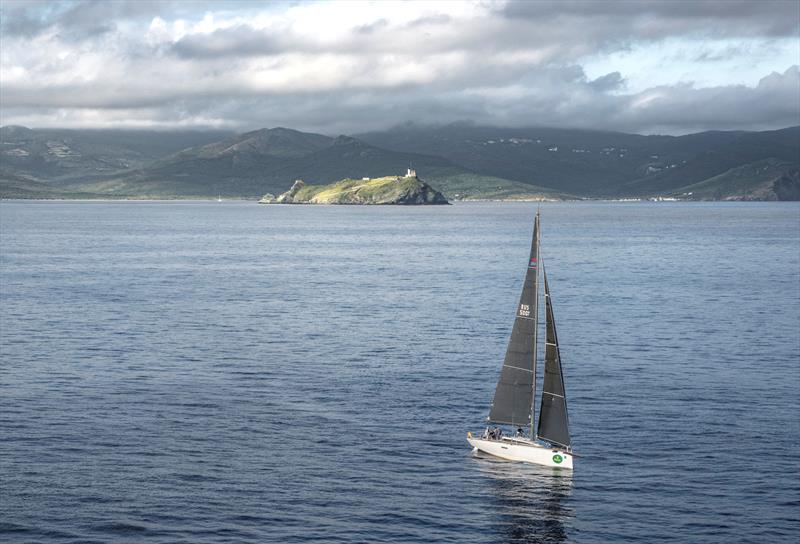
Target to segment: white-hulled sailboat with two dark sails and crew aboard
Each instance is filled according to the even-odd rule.
[[[482,435],[467,433],[467,442],[474,451],[488,453],[511,461],[523,461],[550,467],[572,469],[572,441],[569,434],[567,396],[561,371],[561,354],[550,299],[547,273],[539,256],[540,217],[533,223],[533,241],[528,259],[511,339],[506,349],[494,401],[487,418],[493,428]],[[536,352],[539,329],[539,270],[544,279],[545,339],[544,381],[538,425],[534,412],[536,400]],[[503,435],[502,427],[510,425],[512,435]],[[526,433],[526,430],[529,432]]]

